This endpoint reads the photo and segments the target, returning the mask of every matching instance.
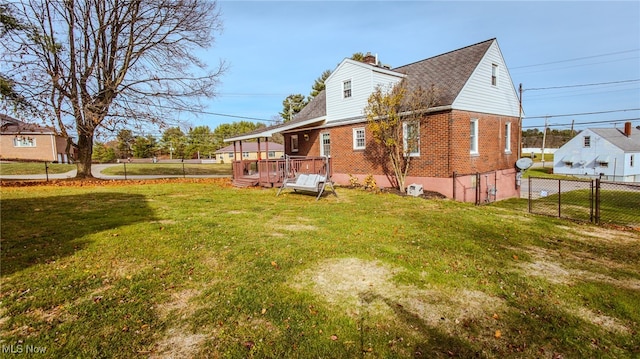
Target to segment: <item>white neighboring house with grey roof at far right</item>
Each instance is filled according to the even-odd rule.
[[[640,126],[638,126],[640,127]],[[553,173],[640,182],[640,128],[590,128],[560,147]]]

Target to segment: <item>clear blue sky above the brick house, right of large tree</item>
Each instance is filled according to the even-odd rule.
[[[271,120],[286,96],[308,95],[324,70],[355,52],[377,54],[396,67],[494,37],[514,87],[522,83],[525,89],[523,126],[543,126],[541,116],[553,116],[548,122],[557,129],[569,128],[572,120],[577,129],[612,126],[583,124],[593,121],[634,119],[640,125],[639,1],[218,5],[224,30],[202,57],[212,65],[225,60],[229,69],[218,96],[207,101],[208,113],[182,114],[194,126],[214,129],[241,120],[215,114]],[[594,112],[608,113],[579,115]]]

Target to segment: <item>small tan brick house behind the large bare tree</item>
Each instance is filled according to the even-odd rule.
[[[66,148],[53,129],[0,114],[0,159],[69,163]]]

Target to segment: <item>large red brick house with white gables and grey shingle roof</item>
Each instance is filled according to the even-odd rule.
[[[518,196],[520,103],[496,39],[393,69],[374,56],[345,59],[292,121],[225,141],[279,132],[288,155],[329,156],[337,184],[371,174],[379,186],[392,186],[363,110],[376,87],[402,79],[410,89],[433,86],[439,93],[419,126],[405,124],[420,138],[406,183],[467,202]]]

